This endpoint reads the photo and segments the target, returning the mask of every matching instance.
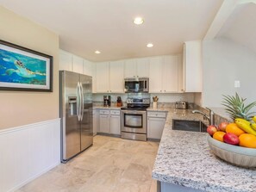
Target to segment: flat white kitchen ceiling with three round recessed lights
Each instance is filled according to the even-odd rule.
[[[59,34],[60,48],[92,61],[182,52],[202,40],[223,0],[0,0]],[[135,26],[135,16],[145,19]],[[153,42],[152,48],[147,43]],[[95,54],[96,50],[101,54]]]

